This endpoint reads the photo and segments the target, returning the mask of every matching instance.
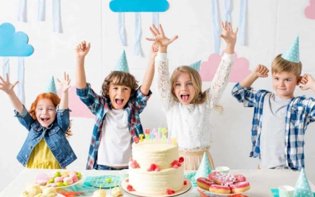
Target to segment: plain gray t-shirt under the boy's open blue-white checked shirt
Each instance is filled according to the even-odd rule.
[[[262,110],[259,166],[261,169],[286,166],[285,117],[291,99],[269,93]]]

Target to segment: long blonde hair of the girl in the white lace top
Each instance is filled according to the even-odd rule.
[[[196,69],[194,69],[190,66],[177,67],[171,75],[171,78],[170,78],[171,89],[172,89],[171,92],[172,92],[172,95],[174,96],[175,100],[179,101],[177,96],[175,95],[175,91],[174,91],[174,83],[175,83],[175,80],[176,80],[179,72],[188,73],[190,75],[190,78],[192,79],[192,85],[196,91],[196,94],[194,95],[194,97],[192,98],[192,101],[190,103],[194,103],[194,104],[204,103],[206,101],[206,92],[205,91],[202,92],[202,90],[201,90],[202,81],[201,81],[200,74],[196,71]],[[223,107],[221,105],[216,104],[215,110],[222,113]]]

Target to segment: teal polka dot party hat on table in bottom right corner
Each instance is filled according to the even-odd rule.
[[[300,176],[295,183],[293,197],[314,197],[310,184],[306,178],[304,168],[300,172]]]

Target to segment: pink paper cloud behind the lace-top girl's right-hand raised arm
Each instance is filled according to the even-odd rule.
[[[201,63],[200,76],[202,81],[212,81],[215,76],[215,72],[220,65],[221,55],[211,54],[208,58],[208,61]],[[244,58],[238,58],[237,54],[234,53],[234,64],[232,66],[229,82],[239,82],[247,75],[249,75],[249,61]]]

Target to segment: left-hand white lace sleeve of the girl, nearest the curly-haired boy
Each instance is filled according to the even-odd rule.
[[[158,53],[155,58],[155,66],[157,70],[156,87],[157,92],[162,101],[162,107],[164,111],[168,111],[174,102],[174,98],[171,95],[171,85],[169,81],[169,60],[166,53]]]

